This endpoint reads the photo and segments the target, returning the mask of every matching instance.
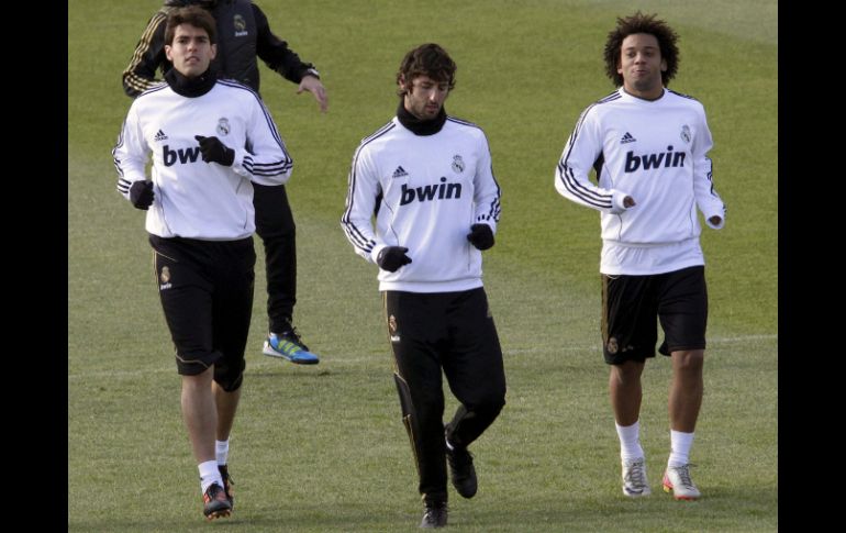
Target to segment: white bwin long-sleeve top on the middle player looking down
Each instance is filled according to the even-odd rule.
[[[439,132],[415,135],[394,116],[353,156],[341,225],[371,263],[385,246],[409,248],[411,264],[379,270],[379,290],[469,290],[482,286],[482,260],[467,234],[475,223],[496,233],[500,195],[477,125],[447,116]]]

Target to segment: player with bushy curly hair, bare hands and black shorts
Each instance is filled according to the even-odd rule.
[[[650,493],[639,442],[641,375],[655,357],[656,317],[672,360],[670,456],[664,488],[677,500],[700,491],[690,447],[702,403],[708,293],[699,243],[705,223],[723,227],[711,181],[711,132],[702,104],[666,88],[678,70],[677,34],[639,11],[617,19],[605,42],[605,73],[617,87],[579,118],[558,163],[555,188],[601,213],[602,342],[620,436],[623,493]],[[588,180],[595,169],[599,184]]]

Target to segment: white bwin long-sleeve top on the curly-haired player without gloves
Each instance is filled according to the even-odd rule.
[[[647,275],[704,265],[697,208],[721,229],[725,204],[711,181],[713,141],[697,100],[665,89],[643,100],[621,87],[588,107],[564,148],[555,188],[601,212],[600,270]],[[588,179],[597,170],[598,186]],[[623,198],[635,200],[623,207]],[[713,215],[719,225],[708,222]]]

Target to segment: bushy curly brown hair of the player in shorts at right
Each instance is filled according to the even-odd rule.
[[[667,62],[667,70],[661,73],[661,81],[665,87],[676,77],[679,69],[679,40],[672,29],[663,20],[656,19],[657,14],[643,14],[639,11],[625,19],[616,20],[616,27],[608,34],[605,41],[605,74],[616,87],[623,85],[623,76],[616,71],[623,53],[623,41],[635,33],[647,33],[658,40],[661,51],[661,59]]]

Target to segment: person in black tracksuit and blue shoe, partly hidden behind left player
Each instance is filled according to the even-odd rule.
[[[326,91],[314,66],[303,63],[288,48],[288,43],[270,32],[267,16],[249,0],[166,0],[147,23],[132,60],[123,71],[123,90],[137,97],[172,67],[165,57],[165,21],[174,9],[199,4],[212,13],[218,23],[218,56],[213,66],[221,77],[232,78],[258,92],[259,73],[256,56],[286,79],[299,84],[299,92],[309,91],[327,108]],[[249,149],[249,147],[247,147]],[[297,302],[297,247],[293,214],[285,186],[254,185],[256,233],[265,245],[267,269],[267,314],[269,335],[264,353],[298,364],[316,364],[292,325]]]

